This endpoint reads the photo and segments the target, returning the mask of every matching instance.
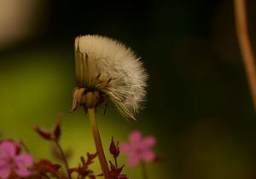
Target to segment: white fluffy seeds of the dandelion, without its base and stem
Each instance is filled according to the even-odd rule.
[[[76,78],[79,88],[107,95],[127,119],[142,107],[148,74],[134,52],[111,38],[75,38]]]

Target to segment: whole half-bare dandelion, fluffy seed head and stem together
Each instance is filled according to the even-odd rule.
[[[111,38],[85,35],[75,38],[77,88],[71,112],[84,107],[88,113],[102,173],[110,179],[108,164],[96,124],[95,109],[113,101],[119,112],[134,121],[146,95],[148,78],[134,52]]]

